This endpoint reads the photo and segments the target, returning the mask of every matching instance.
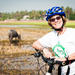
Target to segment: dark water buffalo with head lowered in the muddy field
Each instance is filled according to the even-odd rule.
[[[13,38],[15,38],[15,40],[16,40],[16,38],[18,39],[18,40],[20,40],[21,39],[21,36],[17,33],[17,31],[15,31],[15,30],[10,30],[9,31],[9,41],[12,43],[13,42]]]

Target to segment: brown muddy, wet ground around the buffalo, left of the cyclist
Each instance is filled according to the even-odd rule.
[[[18,43],[9,42],[8,33],[11,29],[21,35]],[[32,43],[49,31],[31,28],[0,28],[0,75],[43,75],[37,71],[40,66],[37,59],[32,56],[35,53]],[[41,59],[40,62],[41,66],[45,64]]]

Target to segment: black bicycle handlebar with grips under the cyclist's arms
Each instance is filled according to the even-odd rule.
[[[37,49],[35,49],[35,50],[37,51],[37,53],[34,53],[33,55],[37,58],[39,58],[40,56],[42,57],[43,61],[46,62],[49,65],[49,69],[48,69],[49,73],[52,73],[52,70],[54,68],[54,64],[58,64],[60,66],[64,66],[64,65],[67,64],[66,61],[65,62],[57,61],[57,60],[55,60],[54,57],[46,58],[46,57],[43,56],[43,54],[39,50],[37,50]]]

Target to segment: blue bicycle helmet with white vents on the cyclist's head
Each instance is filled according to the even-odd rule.
[[[51,9],[48,9],[48,11],[46,11],[46,20],[48,21],[48,19],[54,15],[63,15],[64,17],[66,17],[65,12],[63,11],[62,8],[60,7],[52,7]]]

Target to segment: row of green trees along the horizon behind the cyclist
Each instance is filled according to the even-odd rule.
[[[66,8],[64,8],[63,6],[61,6],[65,13],[66,13],[66,17],[69,20],[75,20],[75,10],[73,10],[72,8],[70,8],[69,6],[67,6]],[[23,19],[24,16],[28,15],[28,19],[30,20],[43,20],[44,19],[44,15],[46,13],[46,10],[32,10],[32,11],[16,11],[16,12],[11,12],[11,13],[4,13],[1,12],[0,13],[0,20],[6,20],[6,19],[16,19],[16,20],[21,20]]]

